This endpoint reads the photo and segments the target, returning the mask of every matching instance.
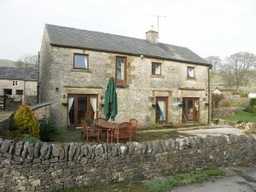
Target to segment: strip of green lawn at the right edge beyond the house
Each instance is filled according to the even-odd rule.
[[[246,111],[237,111],[235,115],[220,116],[219,119],[228,119],[231,121],[247,121],[256,123],[256,114],[248,113]]]

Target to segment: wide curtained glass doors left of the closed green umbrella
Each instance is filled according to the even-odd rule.
[[[81,126],[82,119],[90,125],[97,117],[97,96],[69,94],[67,110],[68,128]]]

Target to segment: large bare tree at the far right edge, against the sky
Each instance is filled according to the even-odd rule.
[[[230,55],[223,67],[222,74],[230,86],[235,85],[236,91],[246,84],[247,76],[256,64],[256,55],[249,52],[239,52]]]

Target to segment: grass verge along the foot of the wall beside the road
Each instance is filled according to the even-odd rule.
[[[174,174],[167,177],[163,182],[120,182],[111,183],[108,185],[96,185],[92,187],[84,187],[79,189],[65,189],[59,192],[164,192],[175,187],[188,185],[191,183],[201,183],[209,180],[212,177],[221,177],[226,175],[226,172],[220,168],[210,167],[201,171],[191,171],[183,174]]]

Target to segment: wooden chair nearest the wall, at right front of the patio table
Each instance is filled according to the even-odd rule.
[[[119,128],[115,137],[116,143],[119,143],[119,140],[125,141],[125,139],[129,139],[129,142],[131,142],[131,123],[124,122],[119,124]]]

